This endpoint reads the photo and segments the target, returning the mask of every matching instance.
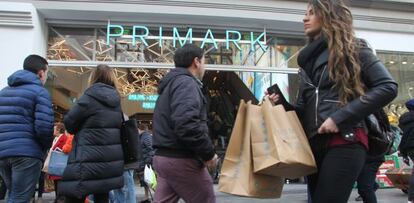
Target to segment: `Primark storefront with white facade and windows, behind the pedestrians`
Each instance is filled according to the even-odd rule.
[[[398,116],[414,94],[414,3],[352,6],[357,35],[400,84],[387,107]],[[228,128],[238,101],[260,100],[271,84],[290,101],[296,97],[306,1],[10,1],[0,7],[0,44],[7,47],[0,51],[1,84],[29,53],[47,56],[58,119],[85,90],[91,70],[104,63],[116,68],[124,111],[150,123],[158,81],[173,68],[174,50],[189,42],[206,51],[211,112],[220,112],[217,119]]]

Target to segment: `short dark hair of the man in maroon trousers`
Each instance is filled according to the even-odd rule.
[[[183,47],[177,49],[174,55],[174,63],[176,68],[188,68],[193,63],[193,60],[198,57],[203,58],[204,51],[194,45],[186,44]]]

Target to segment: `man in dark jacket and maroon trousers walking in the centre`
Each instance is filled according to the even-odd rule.
[[[214,203],[217,155],[208,136],[207,103],[201,91],[204,52],[187,44],[174,56],[175,69],[160,82],[154,110],[153,160],[158,173],[155,202]]]

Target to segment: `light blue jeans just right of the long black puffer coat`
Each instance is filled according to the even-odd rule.
[[[113,203],[136,203],[137,197],[135,193],[134,170],[124,171],[124,187],[113,190]]]

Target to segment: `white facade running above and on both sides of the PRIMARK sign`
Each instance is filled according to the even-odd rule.
[[[48,25],[189,25],[234,28],[303,37],[304,1],[2,1],[0,2],[0,87],[22,68],[29,54],[46,55]],[[355,5],[355,28],[378,50],[414,52],[414,3]],[[368,3],[367,3],[368,4]],[[401,9],[398,6],[401,4]],[[370,6],[372,5],[372,6]],[[366,8],[368,6],[368,8]]]

